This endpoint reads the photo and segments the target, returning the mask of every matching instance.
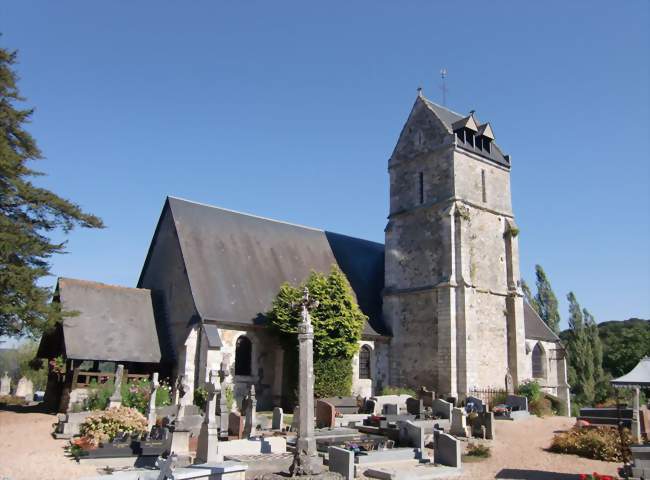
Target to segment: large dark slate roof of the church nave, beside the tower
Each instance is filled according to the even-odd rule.
[[[262,324],[284,282],[298,284],[311,270],[337,264],[369,317],[364,334],[389,333],[381,315],[382,244],[174,197],[167,202],[203,320]]]

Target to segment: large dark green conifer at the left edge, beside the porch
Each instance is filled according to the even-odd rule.
[[[24,128],[34,110],[17,106],[24,98],[15,63],[16,52],[0,48],[0,335],[37,336],[60,319],[49,304],[51,290],[38,285],[50,273],[52,255],[65,252],[65,242],[54,242],[50,235],[67,234],[76,225],[103,225],[78,205],[31,183],[42,173],[27,163],[43,156]]]

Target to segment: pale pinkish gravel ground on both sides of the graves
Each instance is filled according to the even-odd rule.
[[[67,441],[54,440],[50,435],[55,420],[54,415],[43,413],[0,411],[0,479],[73,480],[97,474],[96,466],[77,464],[65,456]],[[616,463],[544,450],[554,431],[566,430],[573,422],[563,417],[499,421],[497,439],[491,442],[492,456],[463,464],[460,478],[577,480],[580,473],[615,475]]]

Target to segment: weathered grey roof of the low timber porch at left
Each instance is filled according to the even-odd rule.
[[[150,290],[59,278],[56,295],[62,310],[76,315],[43,336],[40,357],[63,347],[77,360],[160,361]]]

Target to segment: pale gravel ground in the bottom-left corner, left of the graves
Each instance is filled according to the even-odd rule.
[[[0,410],[0,478],[68,480],[96,475],[97,467],[66,457],[66,440],[50,435],[55,415]]]

